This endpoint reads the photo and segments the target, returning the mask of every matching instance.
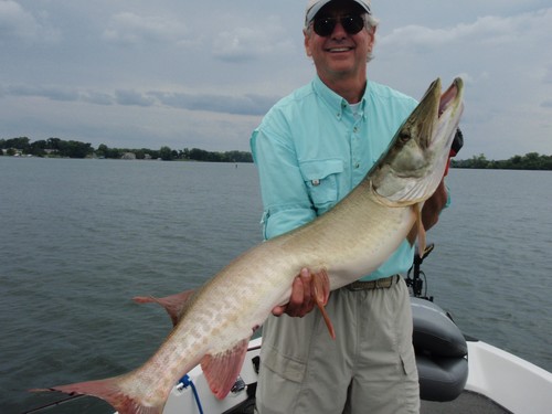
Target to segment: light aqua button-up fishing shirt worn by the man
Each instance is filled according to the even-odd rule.
[[[351,106],[318,76],[279,100],[251,138],[264,204],[264,237],[306,224],[344,198],[385,151],[416,104],[369,81],[362,100]],[[405,273],[413,254],[405,241],[362,279]]]

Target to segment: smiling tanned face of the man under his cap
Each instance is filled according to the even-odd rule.
[[[362,23],[358,33],[351,33],[359,15],[362,15],[362,11],[357,4],[332,2],[317,13],[314,23],[305,31],[307,55],[312,57],[322,81],[365,77],[367,61],[372,52],[375,30],[368,30]],[[344,17],[349,17],[347,22],[342,20]],[[317,33],[317,24],[322,29],[321,34]],[[331,33],[327,34],[329,31]]]

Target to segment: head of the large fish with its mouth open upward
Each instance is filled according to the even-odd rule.
[[[464,110],[463,89],[459,77],[444,94],[440,79],[429,85],[367,176],[380,201],[404,206],[423,202],[435,192]]]

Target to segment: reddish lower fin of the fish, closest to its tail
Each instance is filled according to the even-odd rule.
[[[201,360],[201,369],[212,393],[224,399],[234,386],[242,370],[250,338],[242,339],[234,347],[216,354],[206,354]]]

